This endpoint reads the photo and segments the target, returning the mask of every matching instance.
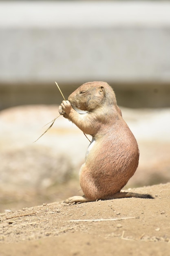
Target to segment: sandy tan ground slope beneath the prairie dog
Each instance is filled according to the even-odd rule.
[[[155,199],[64,204],[0,214],[0,256],[170,256],[170,183],[132,189]]]

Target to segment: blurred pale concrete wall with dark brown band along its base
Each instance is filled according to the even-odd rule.
[[[125,105],[170,105],[169,2],[0,2],[0,108],[95,80]]]

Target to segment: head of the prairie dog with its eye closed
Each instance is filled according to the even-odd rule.
[[[93,111],[103,105],[116,105],[113,89],[105,82],[88,82],[68,97],[72,107]]]

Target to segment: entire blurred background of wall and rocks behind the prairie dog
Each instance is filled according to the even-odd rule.
[[[0,1],[0,211],[79,191],[88,140],[58,115],[88,81],[114,89],[137,138],[125,189],[170,181],[170,2]],[[50,125],[50,124],[49,124]]]

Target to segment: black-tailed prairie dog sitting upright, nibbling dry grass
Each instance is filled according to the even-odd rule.
[[[84,83],[67,101],[62,101],[59,112],[92,136],[85,163],[79,171],[84,195],[68,198],[66,203],[125,197],[152,198],[148,194],[120,192],[137,169],[139,149],[122,118],[115,93],[107,83]]]

